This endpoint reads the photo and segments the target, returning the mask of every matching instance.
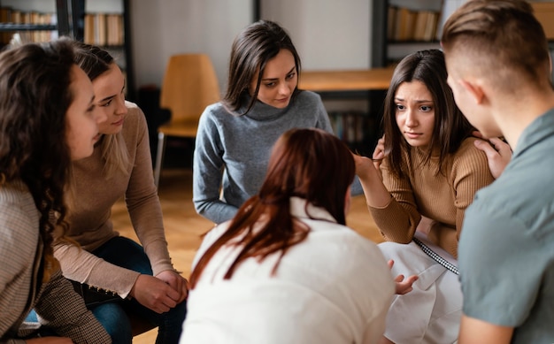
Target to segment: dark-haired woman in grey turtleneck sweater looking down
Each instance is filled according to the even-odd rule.
[[[260,20],[236,37],[227,93],[205,109],[196,134],[193,202],[204,218],[224,222],[256,195],[282,133],[294,127],[332,133],[319,95],[297,88],[299,72],[300,57],[276,23]]]

